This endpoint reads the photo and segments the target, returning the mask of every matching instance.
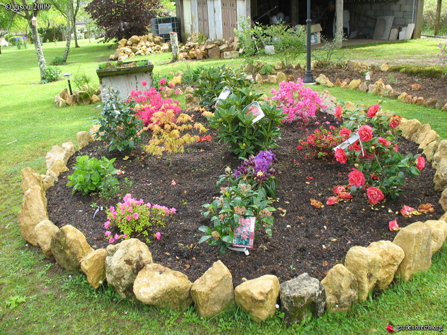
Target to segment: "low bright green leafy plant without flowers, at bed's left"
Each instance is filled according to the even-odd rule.
[[[120,182],[113,174],[118,174],[118,170],[113,166],[115,159],[101,157],[89,158],[87,155],[76,157],[73,167],[73,174],[67,176],[69,182],[67,186],[74,186],[72,193],[81,192],[83,195],[91,192],[101,191],[107,185],[111,187]]]

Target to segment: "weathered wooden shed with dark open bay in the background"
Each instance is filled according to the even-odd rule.
[[[307,19],[307,0],[176,0],[176,8],[184,40],[194,33],[234,37],[238,21],[248,17],[263,25],[291,26],[305,25]],[[398,39],[408,25],[410,35],[419,38],[424,0],[312,0],[311,8],[312,24],[320,23],[327,38],[343,26],[350,38]],[[336,17],[342,20],[336,23]]]

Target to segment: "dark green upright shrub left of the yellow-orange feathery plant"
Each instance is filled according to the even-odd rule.
[[[109,89],[101,94],[102,106],[98,106],[102,108],[101,113],[94,120],[100,128],[95,137],[108,142],[109,151],[127,152],[141,141],[138,132],[142,129],[142,121],[135,117],[133,103],[122,100],[119,93],[119,90]]]

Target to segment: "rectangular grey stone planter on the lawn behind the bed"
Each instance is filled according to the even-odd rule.
[[[125,98],[131,90],[144,91],[145,87],[153,86],[153,64],[149,60],[144,60],[146,65],[140,67],[119,67],[116,69],[96,69],[98,75],[101,91],[114,87],[121,91],[120,96]],[[129,64],[130,62],[124,62]],[[143,86],[142,81],[146,81],[147,85]]]

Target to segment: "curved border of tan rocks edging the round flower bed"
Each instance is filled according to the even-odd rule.
[[[335,97],[328,97],[335,100]],[[447,210],[447,140],[429,124],[404,119],[397,128],[406,139],[419,144],[428,161],[437,170],[434,183],[442,191],[439,203]],[[96,131],[92,126],[91,131]],[[78,148],[93,141],[89,132],[78,132]],[[191,283],[178,271],[154,264],[148,246],[140,240],[124,240],[107,249],[94,250],[85,235],[67,225],[59,229],[48,218],[45,191],[54,185],[59,174],[68,170],[67,161],[76,152],[74,144],[53,146],[45,156],[47,172],[36,173],[30,167],[21,171],[22,209],[18,213],[23,239],[39,245],[47,258],[69,271],[80,271],[98,288],[107,280],[123,298],[149,305],[187,308],[195,303],[201,316],[215,316],[231,305],[239,305],[254,321],[263,321],[276,313],[277,303],[285,313],[287,325],[300,323],[309,315],[346,311],[355,302],[367,299],[371,290],[385,290],[396,276],[404,280],[428,269],[434,253],[447,238],[447,213],[439,220],[414,222],[397,233],[393,242],[373,242],[368,247],[353,246],[345,264],[337,264],[320,282],[307,273],[283,284],[274,275],[264,275],[243,282],[233,290],[232,275],[220,261]],[[304,301],[304,302],[303,302]]]

